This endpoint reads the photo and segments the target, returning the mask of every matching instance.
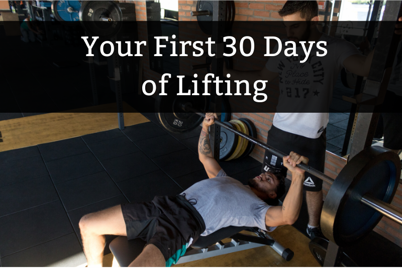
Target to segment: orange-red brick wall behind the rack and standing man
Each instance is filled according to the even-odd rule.
[[[278,16],[278,11],[282,8],[283,4],[286,1],[235,1],[236,7],[236,18],[235,21],[281,21],[280,17]],[[340,10],[341,1],[336,1],[334,6],[334,13],[338,13]],[[330,7],[331,8],[331,7]],[[195,11],[196,9],[196,1],[179,1],[179,21],[196,21],[195,17],[190,17],[190,11]],[[320,10],[323,11],[323,10]],[[324,16],[321,15],[320,21],[324,21]],[[336,24],[338,21],[337,17],[333,17],[333,24]],[[179,29],[180,35],[182,33],[186,33],[186,37],[188,40],[200,40],[203,41],[203,38],[207,36],[199,37],[199,36],[191,36],[192,30],[191,28],[195,27],[194,25],[188,26],[180,26]],[[188,27],[188,29],[185,29]],[[250,25],[252,29],[252,25]],[[233,25],[233,30],[231,35],[236,37],[236,35],[245,36],[245,33],[250,31],[250,29],[239,29],[236,27],[236,22]],[[270,31],[274,31],[276,34],[275,29],[270,28]],[[279,30],[278,30],[279,31]],[[335,27],[332,27],[331,34],[333,35],[333,31],[335,31]],[[181,38],[181,36],[180,36]],[[256,40],[255,40],[256,41]],[[262,44],[264,45],[264,44]],[[263,47],[263,46],[262,46]],[[258,44],[256,43],[255,53],[252,57],[244,58],[241,55],[235,55],[233,59],[233,66],[236,70],[242,70],[243,68],[250,70],[250,66],[252,65],[255,70],[260,70],[263,68],[266,59],[262,56],[265,52],[262,51],[262,47],[258,48]],[[238,47],[237,47],[238,49]],[[188,53],[187,53],[188,54]],[[238,53],[239,54],[239,53]],[[199,58],[191,58],[191,57],[183,57],[180,59],[180,74],[191,75],[193,72],[189,71],[189,65],[193,64],[202,64],[204,63],[205,59],[203,57]],[[206,74],[205,70],[196,70],[198,74],[198,78],[204,77]],[[278,92],[278,81],[273,81],[270,85],[270,89],[273,92]],[[273,93],[275,94],[275,93]],[[239,105],[235,103],[234,100],[231,101],[231,106],[234,107]],[[256,105],[255,102],[250,100],[250,105]],[[244,107],[244,103],[242,106]],[[260,109],[261,110],[261,109]],[[262,111],[262,110],[261,110]],[[251,119],[257,129],[257,138],[262,141],[266,142],[266,137],[268,130],[272,126],[274,113],[233,113],[233,119],[237,119],[240,117],[246,117]],[[251,156],[256,160],[262,162],[264,157],[264,150],[260,147],[256,146],[254,151],[251,153]],[[346,160],[341,158],[331,152],[327,151],[326,154],[326,161],[325,161],[325,174],[330,176],[331,178],[336,178],[341,169],[346,165]],[[290,177],[290,174],[289,174]],[[290,178],[291,179],[291,178]],[[324,192],[324,199],[330,189],[330,185],[326,182],[323,183],[323,192]],[[399,185],[398,191],[392,201],[392,205],[399,207],[402,209],[402,186]],[[394,242],[395,244],[402,247],[402,227],[389,220],[387,218],[383,218],[374,231],[381,234],[385,238],[389,239],[390,241]]]

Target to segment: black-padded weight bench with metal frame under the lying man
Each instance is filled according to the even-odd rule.
[[[257,236],[239,233],[243,230],[254,232]],[[225,238],[231,238],[232,240],[223,243],[221,240]],[[145,244],[146,241],[141,238],[128,240],[127,236],[118,236],[113,239],[109,248],[119,262],[119,265],[121,267],[127,267],[142,252]],[[284,248],[264,230],[257,227],[228,226],[207,236],[199,236],[199,238],[187,248],[185,254],[180,257],[176,264],[264,245],[271,246],[286,261],[291,260],[294,255],[293,251],[289,248]]]

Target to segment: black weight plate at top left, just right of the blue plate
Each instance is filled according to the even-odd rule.
[[[123,14],[113,1],[84,1],[79,21],[89,36],[109,39],[122,28]]]

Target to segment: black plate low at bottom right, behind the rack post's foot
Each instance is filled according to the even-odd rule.
[[[311,253],[317,262],[324,266],[329,241],[321,237],[315,237],[309,243]],[[338,267],[357,267],[357,264],[343,251],[340,252]]]

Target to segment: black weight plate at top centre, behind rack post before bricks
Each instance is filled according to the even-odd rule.
[[[234,1],[226,2],[226,18],[225,18],[225,32],[229,32],[235,20],[235,3]],[[210,11],[209,16],[197,16],[199,28],[207,35],[212,35],[213,22],[212,17],[214,13],[213,1],[198,1],[196,6],[197,11]]]

